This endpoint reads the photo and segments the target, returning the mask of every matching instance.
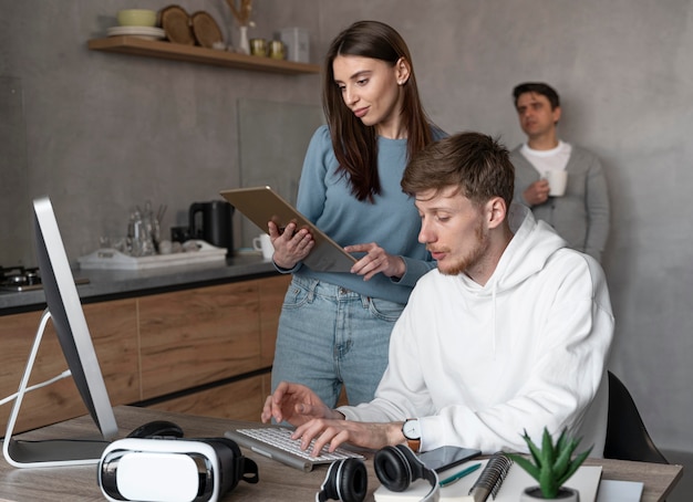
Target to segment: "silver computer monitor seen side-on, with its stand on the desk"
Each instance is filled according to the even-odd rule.
[[[50,199],[35,199],[33,215],[37,258],[46,308],[10,414],[2,453],[10,464],[19,468],[96,463],[108,442],[117,435],[115,416]],[[22,398],[49,320],[53,322],[68,367],[102,438],[41,441],[12,439]]]

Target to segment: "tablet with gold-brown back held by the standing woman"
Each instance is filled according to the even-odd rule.
[[[294,221],[298,228],[308,228],[316,245],[303,263],[319,272],[349,272],[356,259],[316,227],[293,206],[282,199],[270,187],[236,188],[223,190],[221,197],[228,200],[246,218],[267,232],[267,222],[273,221],[282,229]]]

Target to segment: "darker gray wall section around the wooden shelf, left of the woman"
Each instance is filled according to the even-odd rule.
[[[258,25],[250,36],[271,38],[287,25],[318,35],[314,12],[298,9],[300,1],[256,3]],[[136,4],[159,9],[167,3]],[[237,41],[224,0],[178,4],[188,13],[208,11]],[[239,101],[320,103],[318,75],[89,51],[87,40],[105,36],[117,10],[128,6],[0,0],[0,76],[19,79],[24,100],[29,194],[25,206],[13,207],[29,211],[31,198],[50,195],[59,218],[70,222],[63,238],[73,260],[94,251],[100,236],[123,236],[131,209],[146,200],[167,206],[167,229],[187,224],[192,202],[218,199],[220,189],[237,186]],[[2,213],[9,212],[6,207],[0,202]]]

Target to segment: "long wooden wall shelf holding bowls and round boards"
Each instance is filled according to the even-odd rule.
[[[320,73],[320,65],[318,64],[272,60],[270,57],[238,54],[197,45],[183,45],[172,42],[146,40],[137,36],[123,35],[93,39],[89,41],[87,46],[92,51],[120,52],[123,54],[213,64],[216,66],[252,70],[257,72],[285,74]]]

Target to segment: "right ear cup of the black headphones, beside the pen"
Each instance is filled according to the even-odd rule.
[[[431,483],[431,490],[422,502],[433,502],[439,498],[438,474],[428,469],[405,445],[377,450],[373,467],[380,482],[390,491],[403,492],[417,479],[425,479]]]

